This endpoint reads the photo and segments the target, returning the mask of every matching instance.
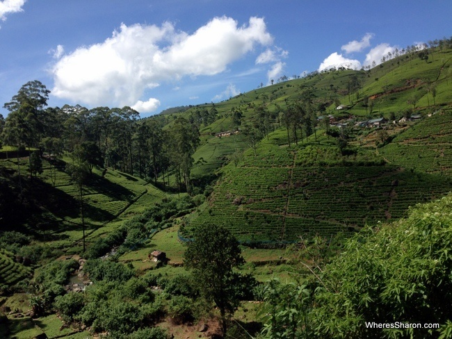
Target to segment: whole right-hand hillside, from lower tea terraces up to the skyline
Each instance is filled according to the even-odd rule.
[[[188,218],[185,234],[211,222],[227,226],[247,242],[291,242],[316,233],[329,237],[403,217],[409,206],[446,195],[452,190],[451,56],[451,49],[437,50],[428,62],[413,53],[369,71],[314,73],[215,104],[219,119],[201,129],[204,145],[194,157],[200,158],[213,143],[215,150],[229,145],[229,151],[217,151],[215,160],[202,156],[204,163],[195,165],[193,172],[207,173],[226,159],[234,161],[220,169],[209,202]],[[347,93],[351,76],[358,78],[360,89]],[[373,104],[364,105],[364,97]],[[289,147],[282,113],[307,100],[318,107],[323,104],[325,111],[317,115],[348,124],[347,142],[354,156],[337,154],[335,139],[326,138],[320,124],[318,138],[311,135]],[[338,102],[348,108],[336,110]],[[252,123],[262,106],[275,113],[275,131],[261,140],[256,155],[245,136],[238,143],[234,136],[219,139],[207,134],[233,129],[236,109],[243,113],[243,124]],[[398,121],[406,112],[419,115],[420,121],[389,122],[383,128],[356,124],[375,117]],[[381,135],[386,135],[383,146]],[[233,145],[236,152],[231,155]],[[223,164],[218,160],[222,156]]]

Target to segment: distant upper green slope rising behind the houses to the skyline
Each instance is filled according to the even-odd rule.
[[[407,110],[412,114],[428,114],[452,105],[452,49],[433,49],[428,60],[418,57],[419,52],[407,53],[369,70],[336,69],[330,72],[312,72],[264,88],[257,88],[217,104],[202,104],[170,117],[193,117],[200,126],[201,147],[195,152],[193,173],[208,174],[220,167],[232,153],[231,149],[248,147],[241,139],[216,140],[215,133],[237,128],[233,122],[234,110],[242,113],[241,126],[256,119],[256,111],[264,107],[271,115],[271,128],[283,126],[284,110],[299,102],[311,101],[316,115],[353,116],[358,121],[393,114],[401,119]],[[351,87],[351,83],[355,87]],[[346,110],[336,110],[339,104]],[[212,123],[196,121],[196,111],[218,113]],[[170,117],[166,115],[166,123]],[[159,119],[159,117],[157,117]],[[320,126],[318,126],[320,128]],[[224,144],[224,146],[222,146]],[[223,149],[225,149],[223,151]]]

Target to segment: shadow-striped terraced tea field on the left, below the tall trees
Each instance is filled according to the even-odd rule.
[[[17,159],[0,160],[3,167],[17,169]],[[28,159],[20,158],[21,172],[28,170]],[[44,172],[38,176],[34,195],[38,198],[39,213],[29,221],[31,231],[42,233],[45,242],[53,247],[75,252],[81,247],[82,228],[79,190],[64,167],[53,167],[43,160]],[[167,197],[143,179],[108,169],[104,176],[94,169],[83,185],[83,209],[88,243],[118,226],[122,220],[143,212],[147,206]],[[42,222],[45,220],[45,222]],[[109,224],[113,222],[113,226]],[[90,237],[93,234],[95,236]]]

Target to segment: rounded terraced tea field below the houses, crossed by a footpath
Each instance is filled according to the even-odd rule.
[[[225,167],[208,204],[189,217],[186,236],[204,222],[227,226],[242,241],[330,236],[403,217],[409,206],[452,190],[450,176],[410,167],[303,165],[297,156],[307,144],[289,149],[280,146],[281,131],[274,135],[261,143],[257,156],[248,150],[236,167]]]

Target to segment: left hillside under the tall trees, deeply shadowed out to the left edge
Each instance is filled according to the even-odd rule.
[[[14,153],[14,152],[13,152]],[[67,161],[70,161],[67,159]],[[19,158],[22,173],[28,171],[27,158]],[[81,251],[79,191],[65,172],[65,163],[43,160],[43,172],[31,181],[22,177],[24,200],[20,202],[17,159],[0,160],[3,185],[3,231],[22,231],[35,238],[35,245],[49,245],[68,254]],[[168,197],[143,179],[108,169],[94,169],[83,186],[86,241],[90,242],[118,227],[122,221]]]

